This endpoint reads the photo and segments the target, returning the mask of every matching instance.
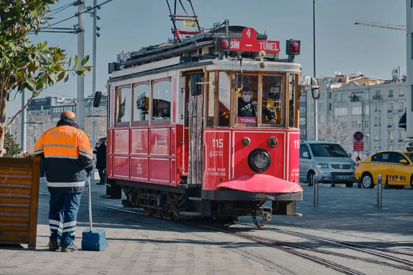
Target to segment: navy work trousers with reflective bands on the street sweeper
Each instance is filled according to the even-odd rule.
[[[60,241],[63,248],[74,242],[76,217],[81,205],[81,193],[50,193],[50,241]]]

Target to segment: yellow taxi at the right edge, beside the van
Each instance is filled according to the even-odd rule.
[[[356,164],[354,176],[363,188],[374,188],[379,174],[382,184],[388,177],[388,185],[393,188],[413,188],[413,152],[383,151]]]

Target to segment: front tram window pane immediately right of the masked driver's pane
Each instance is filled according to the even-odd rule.
[[[262,77],[262,124],[282,124],[282,76]]]

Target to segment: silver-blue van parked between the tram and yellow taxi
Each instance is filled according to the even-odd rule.
[[[352,187],[356,163],[340,144],[301,141],[299,148],[299,181],[312,185],[313,175],[321,184],[346,184]]]

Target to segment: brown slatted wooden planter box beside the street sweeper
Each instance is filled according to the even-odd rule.
[[[40,162],[0,157],[0,243],[36,248]]]

